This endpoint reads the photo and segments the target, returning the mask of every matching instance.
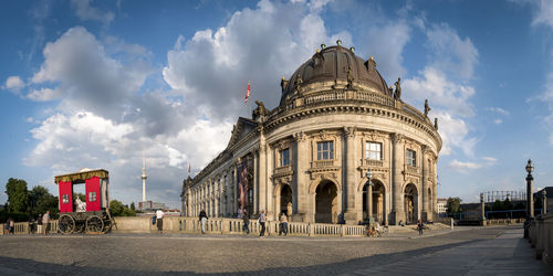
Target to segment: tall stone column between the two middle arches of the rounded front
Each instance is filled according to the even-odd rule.
[[[356,224],[355,215],[355,160],[357,152],[355,150],[355,128],[344,127],[345,152],[342,152],[342,160],[346,161],[346,178],[343,187],[346,193],[346,210],[344,220],[347,224]]]

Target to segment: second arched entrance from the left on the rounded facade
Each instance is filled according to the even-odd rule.
[[[315,222],[337,223],[338,197],[336,185],[323,180],[315,190]]]

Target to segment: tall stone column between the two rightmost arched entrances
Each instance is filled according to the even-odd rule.
[[[399,221],[405,223],[405,211],[403,205],[404,191],[401,191],[401,185],[404,182],[403,176],[403,161],[404,161],[404,148],[401,147],[404,136],[400,134],[390,135],[394,160],[393,160],[393,179],[392,179],[392,220],[390,224],[397,225]]]

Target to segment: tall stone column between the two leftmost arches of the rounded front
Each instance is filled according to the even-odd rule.
[[[292,182],[292,204],[293,204],[293,215],[292,221],[303,221],[303,222],[314,222],[314,212],[315,210],[310,209],[310,199],[311,194],[309,194],[309,184],[310,179],[309,174],[305,173],[310,168],[310,146],[307,142],[307,136],[301,131],[294,134],[295,139],[295,152],[293,156],[295,160],[293,162],[294,166],[294,178],[295,183]],[[293,181],[293,180],[292,180]],[[295,189],[294,185],[295,184]]]

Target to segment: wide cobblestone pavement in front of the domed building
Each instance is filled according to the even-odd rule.
[[[389,238],[1,236],[0,275],[553,275],[521,236],[520,226]]]

